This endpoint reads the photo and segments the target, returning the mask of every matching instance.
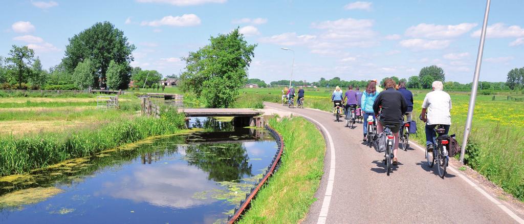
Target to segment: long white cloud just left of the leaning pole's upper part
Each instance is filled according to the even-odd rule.
[[[462,23],[458,25],[434,25],[419,24],[409,27],[406,30],[406,36],[416,38],[445,39],[458,37],[469,32],[477,24]]]

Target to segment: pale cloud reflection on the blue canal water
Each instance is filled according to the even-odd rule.
[[[211,204],[216,199],[195,199],[194,193],[216,188],[208,174],[186,164],[140,166],[133,176],[104,184],[104,194],[146,202],[156,206],[190,208]]]

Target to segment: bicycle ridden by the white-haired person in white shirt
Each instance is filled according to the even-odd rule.
[[[449,162],[447,147],[449,147],[450,136],[444,135],[445,132],[444,126],[438,125],[436,133],[439,134],[439,137],[435,139],[436,148],[433,149],[433,153],[429,152],[429,147],[426,147],[425,151],[425,158],[428,161],[429,167],[433,167],[436,162],[440,178],[444,178],[446,175],[446,167]]]

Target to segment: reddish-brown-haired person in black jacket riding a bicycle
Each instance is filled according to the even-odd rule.
[[[391,132],[395,136],[393,164],[397,165],[398,131],[400,126],[402,126],[402,116],[406,113],[408,105],[402,94],[395,90],[395,85],[396,83],[392,79],[387,79],[384,82],[386,90],[378,94],[373,104],[373,110],[375,110],[375,114],[378,114],[380,111],[379,122],[377,122],[379,132],[383,132],[386,125],[392,126]]]

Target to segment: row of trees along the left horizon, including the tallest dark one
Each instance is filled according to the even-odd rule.
[[[107,21],[69,38],[65,49],[61,63],[46,70],[32,49],[13,45],[0,56],[0,89],[126,89],[130,81],[156,87],[162,79],[155,70],[130,66],[135,46]]]

